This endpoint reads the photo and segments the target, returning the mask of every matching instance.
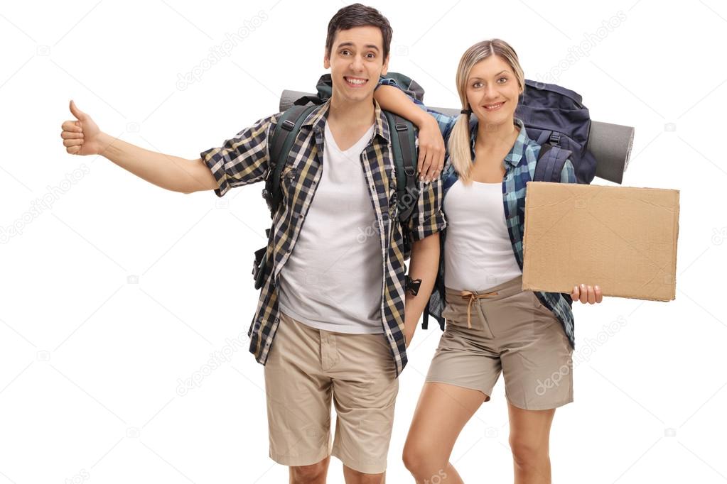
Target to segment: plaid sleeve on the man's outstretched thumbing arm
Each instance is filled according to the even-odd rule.
[[[268,136],[281,113],[257,120],[233,138],[225,140],[222,147],[209,148],[200,153],[204,164],[212,171],[219,185],[214,189],[222,197],[233,186],[255,183],[268,176],[270,153]]]

